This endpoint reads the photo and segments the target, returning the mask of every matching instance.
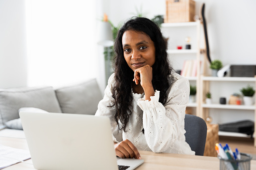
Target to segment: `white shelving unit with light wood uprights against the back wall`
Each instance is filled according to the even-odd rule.
[[[192,30],[196,28],[196,37],[193,39],[197,39],[196,42],[194,42],[194,47],[197,46],[196,48],[192,48],[191,50],[176,50],[176,49],[170,49],[168,50],[168,54],[172,54],[172,56],[179,56],[179,58],[182,58],[183,56],[190,56],[192,59],[197,60],[197,65],[201,65],[203,67],[202,69],[202,74],[197,74],[196,77],[187,77],[190,82],[196,82],[197,86],[197,96],[196,96],[196,103],[189,103],[188,107],[194,107],[196,108],[196,115],[199,117],[202,117],[203,119],[206,119],[206,117],[209,115],[209,110],[211,109],[230,109],[234,111],[239,110],[247,110],[249,112],[254,111],[254,120],[256,120],[256,105],[254,106],[245,106],[245,105],[221,105],[221,104],[205,104],[205,94],[207,91],[209,91],[209,86],[210,82],[215,82],[215,83],[221,83],[221,82],[236,82],[236,84],[240,83],[245,83],[245,82],[256,82],[255,77],[208,77],[206,75],[206,60],[207,56],[204,55],[203,59],[201,58],[201,52],[204,52],[204,49],[200,49],[200,28],[201,28],[201,22],[196,21],[196,22],[187,22],[187,23],[164,23],[161,25],[163,29],[174,29],[175,32],[179,32],[180,30],[184,31],[184,28],[188,28],[188,30]],[[187,31],[188,31],[187,30]],[[188,32],[190,32],[188,31]],[[185,32],[185,34],[187,34]],[[180,34],[179,34],[180,36]],[[172,39],[172,37],[170,37]],[[179,41],[179,39],[176,39],[176,41]],[[173,47],[174,48],[174,47]],[[205,53],[204,53],[205,54]],[[181,57],[180,57],[181,56]],[[194,58],[193,58],[194,57]],[[185,59],[184,59],[185,60]],[[202,61],[201,61],[202,60]],[[200,64],[201,61],[201,64]],[[201,73],[200,67],[197,68],[197,73]],[[256,83],[255,83],[256,86]],[[220,97],[220,96],[219,96]],[[228,112],[228,111],[227,111]],[[256,127],[256,123],[255,123]],[[236,136],[236,137],[249,137],[246,134],[240,134],[240,133],[230,133],[230,132],[219,132],[219,135],[224,135],[224,136]],[[256,140],[254,140],[254,146],[256,147]]]

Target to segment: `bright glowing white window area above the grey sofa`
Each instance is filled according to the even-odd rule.
[[[26,8],[28,85],[56,87],[95,78],[95,1],[27,0]]]

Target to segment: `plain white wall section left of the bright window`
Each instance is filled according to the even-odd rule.
[[[0,88],[27,85],[25,0],[0,0]]]

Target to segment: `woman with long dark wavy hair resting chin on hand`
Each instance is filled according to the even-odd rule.
[[[133,18],[115,41],[114,74],[109,78],[97,116],[109,116],[116,155],[140,159],[138,150],[195,154],[185,141],[189,81],[169,66],[166,42],[157,25]]]

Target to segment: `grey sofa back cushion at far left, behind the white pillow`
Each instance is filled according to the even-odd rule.
[[[54,90],[50,86],[0,89],[0,125],[19,118],[19,109],[35,107],[61,113]]]

